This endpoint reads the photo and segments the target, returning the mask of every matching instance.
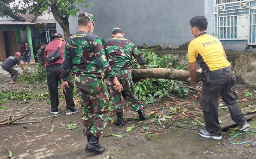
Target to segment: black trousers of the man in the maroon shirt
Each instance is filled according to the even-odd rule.
[[[47,85],[50,93],[50,101],[51,101],[53,112],[58,111],[58,105],[59,105],[58,85],[61,84],[60,73],[61,73],[60,64],[46,67]],[[74,84],[72,83],[70,76],[67,82],[68,82],[69,88],[66,88],[66,92],[64,92],[65,101],[66,101],[67,109],[73,110],[75,108],[75,103],[73,99]]]

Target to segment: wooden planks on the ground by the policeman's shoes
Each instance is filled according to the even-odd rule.
[[[247,106],[247,107],[241,109],[242,112],[244,112],[244,113],[248,112],[248,114],[245,114],[245,117],[247,120],[256,117],[256,112],[251,111],[255,108],[256,108],[256,104],[254,104],[252,106]],[[253,113],[251,113],[251,112],[253,112]],[[219,119],[222,121],[221,129],[225,129],[225,128],[231,127],[233,125],[236,125],[236,123],[231,119],[230,113],[227,113],[226,115],[219,117]]]

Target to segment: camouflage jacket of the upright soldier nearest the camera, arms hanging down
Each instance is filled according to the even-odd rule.
[[[68,38],[65,44],[61,78],[66,81],[71,71],[76,75],[102,78],[102,73],[108,78],[116,76],[111,70],[103,50],[99,36],[88,32],[77,32]]]

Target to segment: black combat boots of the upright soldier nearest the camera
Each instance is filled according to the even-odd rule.
[[[90,153],[95,152],[96,154],[101,154],[105,150],[105,147],[99,146],[99,138],[94,135],[91,135],[91,138],[86,145],[85,151]]]

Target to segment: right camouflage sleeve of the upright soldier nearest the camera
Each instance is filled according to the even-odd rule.
[[[108,78],[113,80],[116,77],[116,75],[111,70],[111,67],[109,66],[109,63],[106,59],[106,55],[105,55],[105,51],[102,46],[101,39],[96,38],[94,40],[93,50],[94,50],[95,58],[96,58],[99,68],[106,76],[108,76]]]

